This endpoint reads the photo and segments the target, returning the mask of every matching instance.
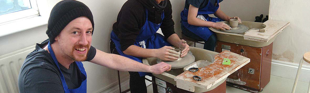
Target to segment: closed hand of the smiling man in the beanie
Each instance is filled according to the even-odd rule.
[[[161,74],[165,71],[170,71],[170,70],[171,70],[171,65],[165,62],[160,62],[160,63],[150,66],[150,71],[151,73],[154,73],[154,74]]]

